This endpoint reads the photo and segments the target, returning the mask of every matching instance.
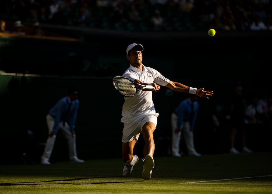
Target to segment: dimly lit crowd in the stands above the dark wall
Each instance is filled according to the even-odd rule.
[[[270,0],[21,0],[0,20],[129,31],[272,30]],[[17,22],[18,23],[18,22]],[[7,25],[7,31],[15,31]]]

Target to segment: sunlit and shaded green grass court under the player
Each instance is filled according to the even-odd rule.
[[[0,193],[272,193],[272,153],[156,157],[150,180],[143,162],[122,176],[121,158],[0,166]]]

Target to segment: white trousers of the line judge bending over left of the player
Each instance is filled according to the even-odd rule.
[[[50,134],[52,132],[52,130],[53,130],[53,125],[54,125],[55,119],[52,116],[47,115],[46,116],[46,122],[47,122],[48,132]],[[59,130],[62,132],[63,136],[66,138],[66,140],[68,142],[69,159],[73,160],[73,159],[77,158],[76,135],[75,134],[72,135],[72,133],[70,131],[70,127],[69,127],[69,125],[67,123],[65,123],[65,125],[63,127],[63,122],[60,122]],[[48,136],[48,139],[46,141],[46,145],[45,145],[45,148],[44,148],[44,153],[43,153],[43,155],[41,157],[42,160],[49,161],[50,156],[51,156],[52,151],[53,151],[55,140],[56,140],[56,135],[53,135],[52,137],[50,137],[50,135]]]

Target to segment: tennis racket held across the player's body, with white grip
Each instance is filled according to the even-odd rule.
[[[131,97],[137,94],[142,89],[153,89],[153,86],[142,85],[135,83],[124,76],[115,76],[112,79],[115,89],[126,97]]]

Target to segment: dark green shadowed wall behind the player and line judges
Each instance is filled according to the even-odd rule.
[[[68,86],[79,88],[76,121],[77,150],[82,159],[120,157],[123,97],[115,91],[112,77],[128,68],[125,49],[132,42],[144,46],[143,63],[173,81],[214,90],[212,99],[199,99],[196,148],[203,154],[228,152],[229,128],[214,131],[210,115],[224,104],[233,84],[242,81],[246,96],[269,87],[270,45],[268,33],[224,34],[215,37],[185,34],[166,38],[131,38],[85,35],[85,41],[69,42],[29,38],[0,40],[1,146],[7,160],[20,162],[27,150],[39,162],[47,138],[45,116]],[[22,75],[27,72],[25,82]],[[13,83],[13,84],[12,84]],[[165,87],[154,94],[158,117],[156,154],[169,154],[170,114],[186,94]],[[28,133],[24,133],[24,132]],[[248,132],[249,147],[271,151],[266,129]],[[135,152],[141,156],[142,139]],[[51,161],[68,159],[67,145],[57,136]]]

